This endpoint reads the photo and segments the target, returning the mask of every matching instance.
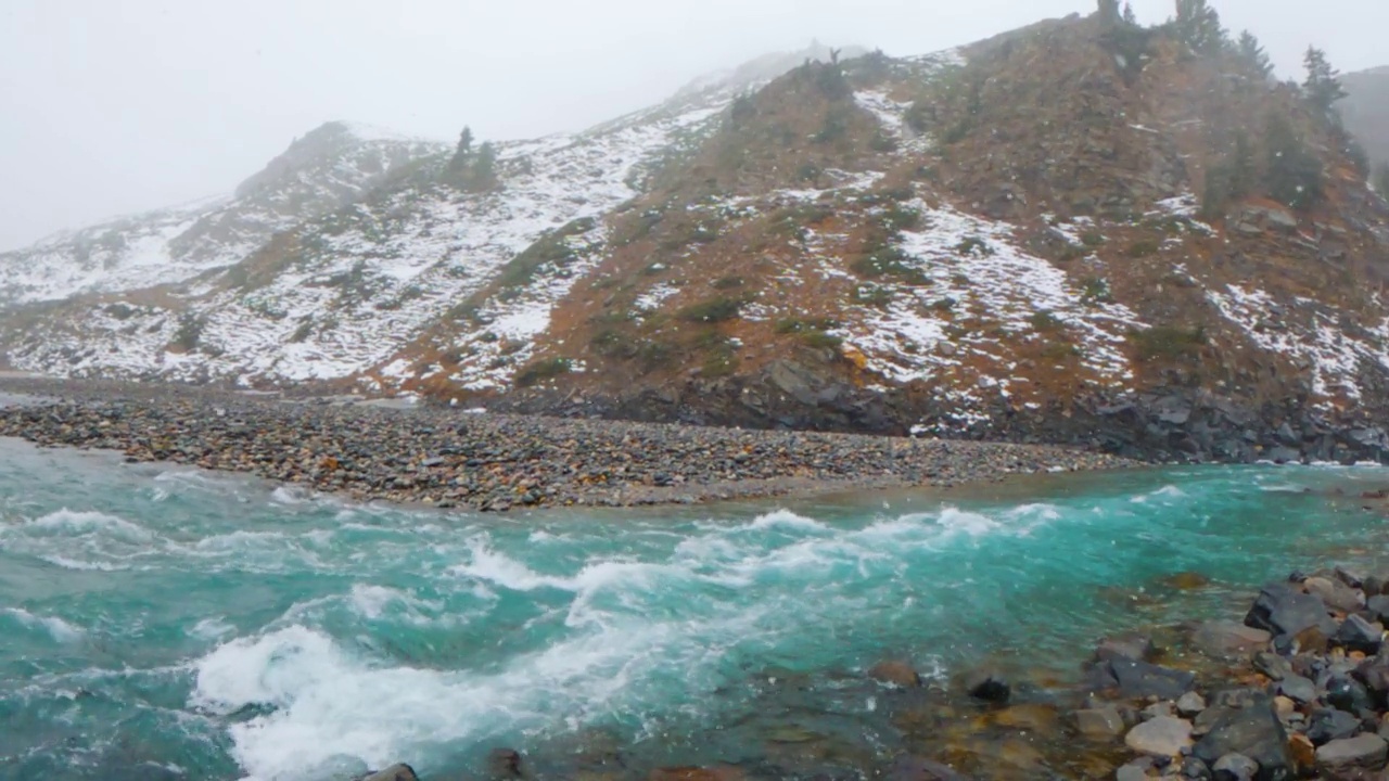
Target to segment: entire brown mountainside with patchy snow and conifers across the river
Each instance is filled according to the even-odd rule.
[[[1279,83],[1179,6],[768,58],[531,142],[328,125],[231,200],[0,256],[0,347],[564,416],[1383,457],[1389,204],[1340,82],[1311,51]]]

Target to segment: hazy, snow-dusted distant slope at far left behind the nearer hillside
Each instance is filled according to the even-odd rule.
[[[122,217],[0,254],[0,306],[176,283],[232,265],[276,232],[360,197],[388,171],[446,149],[325,124],[235,196]]]

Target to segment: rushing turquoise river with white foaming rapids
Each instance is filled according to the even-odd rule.
[[[454,778],[593,735],[633,773],[753,760],[768,730],[871,721],[843,681],[885,657],[1074,667],[1106,632],[1376,561],[1358,495],[1385,485],[1200,467],[478,517],[0,441],[0,780]],[[1178,571],[1213,586],[1163,592]]]

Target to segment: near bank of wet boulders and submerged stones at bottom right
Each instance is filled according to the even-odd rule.
[[[1204,585],[1193,573],[1176,582]],[[1265,585],[1242,620],[1106,638],[1068,681],[988,667],[936,681],[885,660],[820,692],[874,698],[876,707],[856,717],[858,741],[872,745],[857,752],[783,724],[758,762],[639,770],[611,746],[558,764],[499,748],[464,777],[1381,781],[1389,778],[1386,591],[1389,577],[1295,573]],[[365,778],[417,781],[408,766]]]

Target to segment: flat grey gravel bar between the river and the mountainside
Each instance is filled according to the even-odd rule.
[[[250,472],[360,500],[482,511],[953,486],[1133,466],[1033,445],[383,409],[174,386],[11,378],[0,393],[8,395],[0,396],[0,436]]]

